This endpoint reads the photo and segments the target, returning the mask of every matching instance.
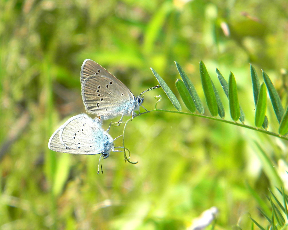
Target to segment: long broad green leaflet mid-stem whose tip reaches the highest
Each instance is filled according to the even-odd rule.
[[[200,60],[199,62],[200,78],[202,88],[208,105],[208,109],[213,117],[218,115],[217,101],[214,94],[213,86],[211,84],[211,78],[207,72],[206,66]]]

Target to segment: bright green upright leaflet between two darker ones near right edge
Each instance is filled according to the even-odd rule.
[[[267,106],[267,93],[266,93],[266,86],[262,83],[259,91],[259,96],[256,104],[256,112],[255,112],[255,126],[260,127],[262,126],[265,114],[266,114],[266,106]],[[288,123],[287,123],[288,126]]]

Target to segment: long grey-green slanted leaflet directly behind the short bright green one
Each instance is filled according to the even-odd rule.
[[[182,69],[182,67],[179,65],[179,63],[177,63],[175,61],[175,64],[176,64],[176,67],[177,67],[177,70],[186,86],[186,88],[188,89],[191,97],[193,98],[193,102],[196,106],[196,109],[197,111],[200,113],[200,114],[203,114],[204,113],[204,107],[203,107],[203,104],[200,100],[200,97],[193,85],[193,83],[190,81],[190,79],[188,78],[187,74],[185,73],[185,71]]]

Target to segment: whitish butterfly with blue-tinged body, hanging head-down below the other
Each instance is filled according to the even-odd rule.
[[[113,141],[118,137],[113,139],[108,134],[109,129],[104,131],[101,123],[100,119],[93,120],[85,113],[71,117],[52,134],[48,148],[70,154],[101,154],[99,163],[102,157],[105,159],[109,156],[110,151],[122,152],[114,150]]]

